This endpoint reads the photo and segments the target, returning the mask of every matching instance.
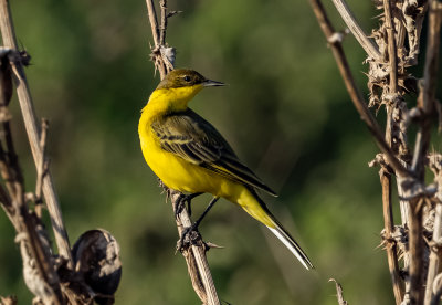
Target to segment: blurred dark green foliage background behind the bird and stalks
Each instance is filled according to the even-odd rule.
[[[307,1],[168,1],[167,41],[177,66],[229,83],[202,92],[191,107],[232,144],[272,188],[270,208],[308,253],[307,272],[262,225],[221,201],[200,231],[225,246],[208,253],[229,304],[337,304],[329,277],[350,304],[393,302],[382,228],[376,146],[354,109]],[[327,2],[338,29],[344,24]],[[349,1],[361,25],[375,27],[370,1]],[[119,241],[123,280],[116,304],[199,304],[172,209],[138,144],[139,112],[159,82],[149,62],[146,2],[11,1],[40,116],[50,119],[49,154],[71,242],[94,228]],[[364,51],[345,40],[366,90]],[[420,76],[420,75],[418,75]],[[29,190],[35,170],[17,101],[12,105]],[[380,118],[381,120],[381,118]],[[199,214],[209,196],[194,201]],[[399,221],[399,219],[397,219]],[[0,215],[0,294],[29,304],[13,230]]]

